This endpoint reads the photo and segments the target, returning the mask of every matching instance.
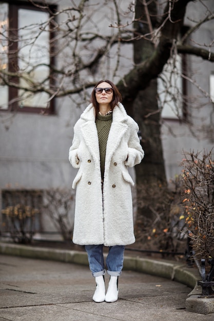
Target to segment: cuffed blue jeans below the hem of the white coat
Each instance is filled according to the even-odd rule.
[[[88,254],[89,267],[94,277],[105,274],[103,244],[101,245],[86,245]],[[115,245],[110,246],[106,258],[107,273],[113,276],[119,276],[123,269],[123,257],[125,246]]]

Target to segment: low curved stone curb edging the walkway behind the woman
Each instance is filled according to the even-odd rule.
[[[0,242],[0,253],[88,265],[87,253],[75,250],[58,250]],[[186,309],[202,314],[214,313],[214,299],[198,297],[201,294],[201,287],[197,285],[197,281],[201,277],[196,269],[190,269],[186,265],[169,260],[124,256],[124,270],[165,277],[185,284],[193,289],[186,299]]]

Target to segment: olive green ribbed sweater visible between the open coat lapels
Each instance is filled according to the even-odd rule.
[[[104,116],[98,114],[96,118],[96,129],[98,130],[98,139],[100,147],[100,168],[101,168],[101,177],[104,179],[105,171],[105,158],[106,158],[106,146],[108,141],[108,134],[112,123],[112,113]]]

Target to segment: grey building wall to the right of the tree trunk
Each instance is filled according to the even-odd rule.
[[[214,11],[214,2],[207,1],[206,5],[212,12]],[[206,8],[202,3],[191,2],[187,6],[185,25],[191,27],[193,25],[191,19],[192,21],[200,21],[205,15]],[[199,30],[191,34],[191,44],[195,46],[197,44],[211,44],[213,42],[212,30],[214,30],[213,21],[203,24]],[[208,49],[205,46],[204,48]],[[214,143],[213,103],[210,102],[208,97],[204,97],[199,89],[200,87],[209,93],[209,77],[214,71],[214,64],[204,61],[200,57],[188,55],[186,66],[189,77],[192,77],[197,84],[186,82],[188,94],[186,108],[191,126],[189,127],[178,121],[166,121],[166,124],[162,127],[162,142],[168,179],[181,172],[179,164],[184,158],[183,151],[210,151]]]

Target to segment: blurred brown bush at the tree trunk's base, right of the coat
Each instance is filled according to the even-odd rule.
[[[176,177],[171,186],[143,185],[138,191],[138,218],[135,224],[137,243],[144,249],[185,251],[186,223],[181,207],[182,179]],[[185,241],[185,242],[184,242]]]

